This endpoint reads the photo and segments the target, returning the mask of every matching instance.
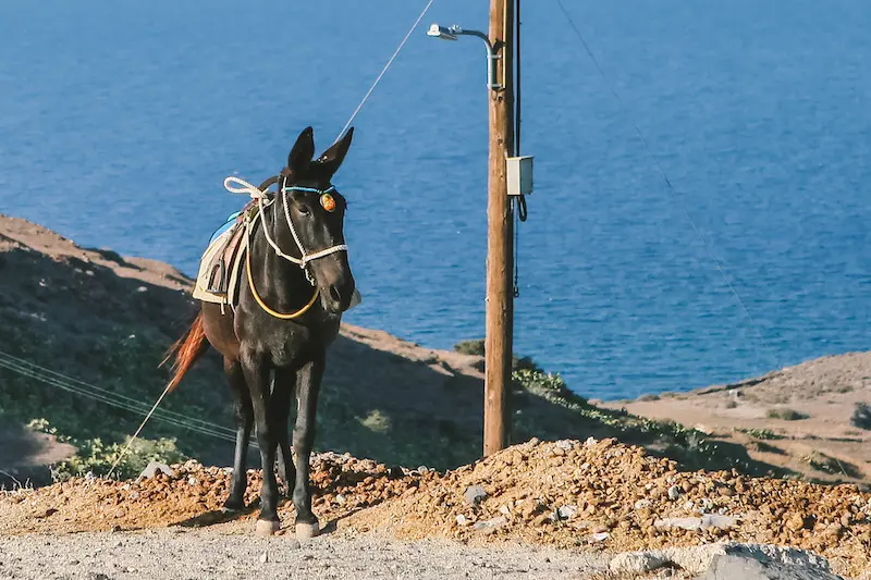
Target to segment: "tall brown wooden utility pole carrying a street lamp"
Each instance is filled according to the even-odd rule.
[[[490,177],[487,203],[487,336],[484,340],[483,455],[505,447],[514,334],[513,213],[506,159],[514,150],[514,1],[490,1],[490,40],[501,59],[490,92]]]

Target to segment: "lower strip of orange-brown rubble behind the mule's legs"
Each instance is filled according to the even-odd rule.
[[[230,493],[230,468],[187,461],[136,481],[75,478],[39,490],[19,490],[0,496],[0,535],[138,530],[167,526],[204,526],[228,521],[221,506]],[[388,468],[368,459],[334,453],[311,458],[315,511],[334,521],[358,509],[401,496],[421,482],[434,480],[430,470]],[[261,472],[248,470],[242,518],[254,518]],[[291,502],[280,508],[284,525],[293,522]]]

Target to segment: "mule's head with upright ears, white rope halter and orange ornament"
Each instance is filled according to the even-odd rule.
[[[302,246],[307,256],[327,251],[308,261],[306,268],[320,292],[323,309],[330,313],[347,310],[355,287],[347,251],[335,250],[345,244],[347,203],[332,185],[332,177],[345,159],[353,135],[352,128],[323,155],[312,160],[314,131],[306,128],[296,139],[287,156],[287,166],[279,176],[277,223],[290,219],[297,238],[293,238],[293,232],[287,227],[289,232],[284,232],[283,237],[290,237],[286,240],[291,244],[289,248]]]

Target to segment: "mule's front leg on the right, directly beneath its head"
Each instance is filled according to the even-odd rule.
[[[315,416],[323,367],[324,354],[321,353],[315,360],[299,369],[296,375],[296,396],[299,408],[293,430],[293,460],[296,464],[293,503],[296,506],[296,535],[302,539],[315,536],[320,531],[318,518],[311,513],[308,460],[315,444]]]

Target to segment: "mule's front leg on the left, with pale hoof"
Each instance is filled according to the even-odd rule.
[[[269,412],[269,365],[262,353],[243,348],[242,368],[252,395],[254,421],[257,425],[257,446],[263,468],[263,484],[260,489],[260,517],[256,533],[270,535],[281,528],[278,513],[278,484],[275,482],[275,434]]]

